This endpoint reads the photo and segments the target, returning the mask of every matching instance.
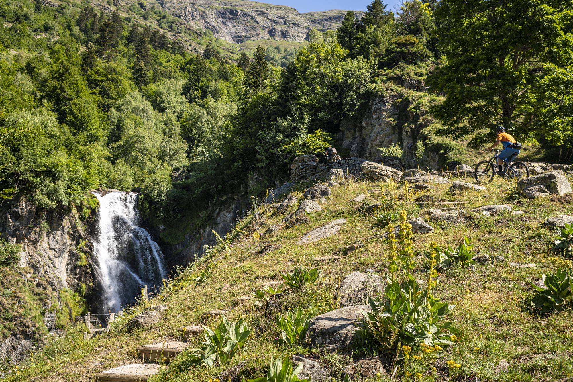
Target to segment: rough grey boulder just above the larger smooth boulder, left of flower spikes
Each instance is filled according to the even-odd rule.
[[[382,291],[384,291],[382,277],[357,271],[344,278],[336,290],[336,296],[342,306],[362,305],[368,303],[368,298],[374,298]]]

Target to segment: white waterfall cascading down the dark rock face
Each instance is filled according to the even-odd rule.
[[[117,312],[122,304],[134,302],[145,284],[159,286],[167,272],[159,245],[139,227],[138,194],[94,195],[100,202],[93,253],[102,307],[106,313]]]

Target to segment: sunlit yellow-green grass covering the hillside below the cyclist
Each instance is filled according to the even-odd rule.
[[[468,180],[469,181],[469,180]],[[459,264],[442,271],[438,276],[437,295],[456,308],[449,315],[454,325],[461,330],[460,339],[453,346],[445,348],[444,354],[431,361],[420,362],[427,370],[422,379],[446,380],[449,377],[446,360],[460,364],[457,378],[477,377],[480,380],[558,380],[571,377],[573,358],[573,313],[562,311],[548,317],[535,317],[528,310],[532,298],[532,282],[541,278],[542,272],[555,270],[550,258],[558,256],[550,251],[551,229],[543,228],[547,217],[560,214],[573,214],[571,198],[539,198],[525,200],[516,194],[515,184],[500,179],[488,185],[482,193],[473,191],[452,194],[448,185],[435,185],[433,191],[423,194],[407,194],[402,185],[384,184],[391,197],[398,198],[399,208],[405,209],[409,217],[424,216],[425,208],[415,200],[431,196],[433,201],[467,201],[466,211],[482,205],[509,204],[523,215],[501,213],[493,217],[473,216],[468,223],[460,225],[440,225],[431,222],[434,232],[414,234],[414,250],[418,264],[425,264],[423,250],[429,250],[429,243],[436,241],[439,246],[457,247],[464,237],[473,239],[477,255],[500,255],[503,262],[475,266],[475,271]],[[9,380],[28,381],[87,381],[96,372],[132,363],[136,357],[136,346],[155,341],[180,338],[177,328],[183,325],[206,325],[213,328],[216,321],[203,318],[205,311],[213,309],[230,310],[228,317],[236,321],[245,317],[252,330],[247,349],[243,349],[231,360],[226,369],[242,364],[241,377],[265,375],[271,357],[289,354],[307,354],[322,365],[329,365],[333,377],[340,379],[342,370],[362,355],[321,353],[319,349],[287,348],[276,345],[273,340],[280,337],[280,330],[274,323],[274,314],[284,314],[289,309],[302,307],[311,317],[336,309],[337,301],[333,291],[344,276],[353,271],[367,268],[380,275],[387,271],[384,261],[388,251],[382,239],[363,240],[385,231],[376,223],[375,217],[360,212],[351,199],[359,194],[367,194],[364,204],[380,201],[382,194],[367,193],[374,186],[368,182],[349,182],[332,188],[332,195],[326,204],[321,204],[323,212],[313,212],[309,222],[260,237],[270,225],[278,224],[284,213],[277,215],[276,208],[260,206],[261,220],[253,215],[237,224],[232,244],[226,250],[219,244],[211,255],[199,260],[194,268],[187,268],[171,280],[168,289],[155,301],[134,308],[123,320],[113,324],[112,330],[92,340],[81,340],[83,328],[70,330],[67,337],[52,340],[41,353],[34,355],[33,363],[22,366],[18,376]],[[304,185],[297,185],[295,193],[301,196]],[[427,195],[427,196],[426,196]],[[559,199],[559,200],[558,200]],[[292,207],[293,211],[296,205]],[[297,240],[311,229],[321,227],[332,220],[344,217],[347,223],[335,236],[307,245],[297,245]],[[426,216],[426,220],[427,216]],[[330,263],[314,263],[313,258],[335,254],[345,245],[363,243],[364,247],[351,252],[346,257]],[[267,244],[279,244],[275,251],[262,254]],[[535,267],[516,268],[509,263],[535,263]],[[213,276],[201,285],[193,281],[198,271],[206,263],[214,263]],[[307,289],[284,293],[270,309],[270,315],[256,309],[253,300],[240,303],[234,298],[249,295],[260,289],[262,284],[280,280],[278,271],[292,270],[295,266],[317,266],[321,276],[319,282]],[[417,278],[426,279],[427,272],[422,266],[415,271]],[[125,322],[145,306],[163,303],[168,309],[153,330],[127,333]],[[194,347],[196,344],[190,344]],[[359,349],[356,349],[357,352]],[[413,354],[419,354],[414,348]],[[358,358],[357,358],[358,357]],[[503,366],[506,360],[509,366]],[[501,361],[501,363],[500,363]],[[426,362],[426,363],[424,363]],[[436,371],[431,373],[431,368]],[[355,371],[358,370],[354,368]],[[186,355],[179,356],[160,375],[150,381],[207,381],[225,371],[222,367],[190,367]],[[424,371],[422,371],[424,372]],[[390,371],[391,373],[391,371]],[[401,368],[397,377],[406,379]],[[375,380],[386,380],[382,373]],[[354,376],[353,380],[356,380]]]

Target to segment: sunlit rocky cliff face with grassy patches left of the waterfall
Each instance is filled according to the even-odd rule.
[[[29,357],[42,334],[75,318],[73,311],[81,307],[70,301],[76,299],[81,305],[83,300],[73,291],[88,297],[96,276],[87,228],[75,209],[45,212],[23,197],[5,201],[0,208],[0,237],[22,250],[18,264],[0,270],[4,279],[14,280],[2,285],[6,314],[0,323],[10,330],[0,338],[0,358],[15,361]],[[37,304],[26,307],[37,314],[21,311],[22,304]]]

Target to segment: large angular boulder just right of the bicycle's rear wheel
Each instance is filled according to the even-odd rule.
[[[517,190],[528,198],[537,198],[548,194],[563,195],[572,192],[571,184],[563,170],[549,171],[521,179],[517,182]]]

